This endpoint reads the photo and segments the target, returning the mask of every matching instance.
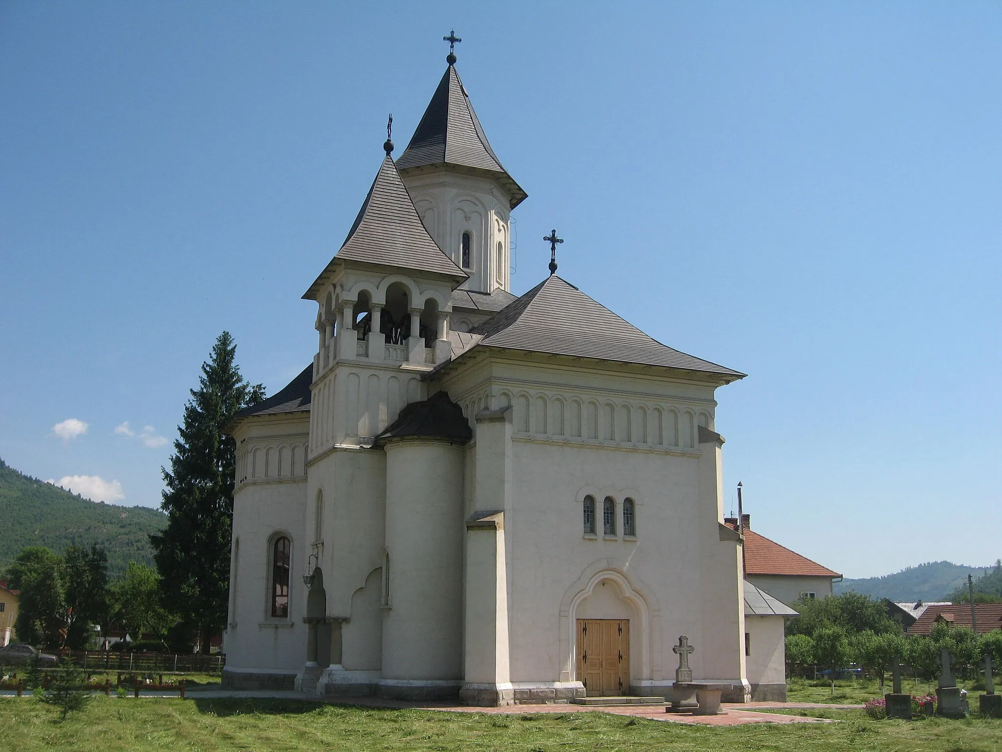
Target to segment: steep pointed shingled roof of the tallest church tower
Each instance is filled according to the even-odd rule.
[[[411,142],[397,160],[401,170],[433,164],[485,170],[508,192],[511,209],[526,198],[526,193],[501,166],[501,160],[487,142],[454,65],[450,65],[442,76]]]

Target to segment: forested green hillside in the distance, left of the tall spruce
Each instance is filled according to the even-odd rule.
[[[8,467],[0,459],[0,571],[26,545],[62,553],[67,545],[103,545],[112,574],[130,559],[152,563],[147,535],[167,517],[146,506],[117,506],[80,498]]]

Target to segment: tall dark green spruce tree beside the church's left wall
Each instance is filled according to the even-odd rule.
[[[201,365],[198,388],[184,405],[170,470],[163,472],[167,525],[150,535],[164,606],[176,612],[207,652],[226,620],[235,443],[225,433],[233,416],[265,397],[240,376],[228,332]]]

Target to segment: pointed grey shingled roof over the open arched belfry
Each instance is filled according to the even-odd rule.
[[[304,294],[304,299],[316,300],[323,279],[339,260],[467,279],[466,272],[428,234],[389,154],[383,159],[344,245]]]

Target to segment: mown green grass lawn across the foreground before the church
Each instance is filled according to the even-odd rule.
[[[3,749],[23,750],[881,750],[989,752],[1002,721],[871,721],[825,710],[839,723],[729,728],[603,713],[487,715],[373,710],[281,700],[96,697],[60,722],[33,698],[0,698]]]

